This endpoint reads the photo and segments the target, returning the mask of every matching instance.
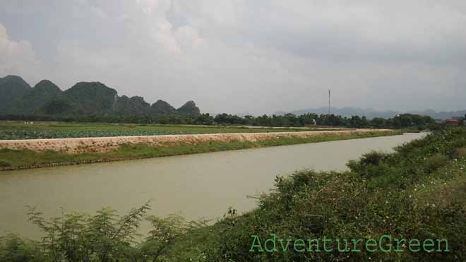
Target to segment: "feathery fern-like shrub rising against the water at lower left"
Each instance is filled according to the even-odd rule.
[[[111,208],[102,208],[92,217],[68,213],[45,220],[35,208],[30,208],[28,215],[45,234],[40,246],[47,260],[118,261],[137,254],[136,230],[148,209],[149,203],[145,203],[121,218]]]

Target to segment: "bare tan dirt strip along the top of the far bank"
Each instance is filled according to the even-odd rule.
[[[393,132],[388,129],[356,129],[342,131],[301,131],[270,133],[210,133],[166,136],[114,136],[101,138],[56,138],[0,141],[0,149],[29,149],[34,151],[63,151],[66,153],[108,152],[126,143],[169,146],[176,143],[202,143],[208,141],[262,141],[280,137],[309,138],[325,135]]]

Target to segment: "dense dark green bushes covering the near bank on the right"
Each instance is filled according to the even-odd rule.
[[[349,172],[304,170],[277,177],[246,215],[225,231],[210,261],[466,261],[466,130],[431,134],[350,161]],[[250,252],[253,238],[448,239],[449,252]],[[256,243],[257,244],[257,243]],[[443,246],[445,248],[446,246]],[[292,249],[292,247],[290,248]]]

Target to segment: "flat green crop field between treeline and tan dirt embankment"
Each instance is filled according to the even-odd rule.
[[[263,133],[289,131],[325,131],[325,129],[251,129],[244,126],[184,126],[157,124],[0,121],[0,140],[85,138],[107,136],[160,136],[201,133]]]

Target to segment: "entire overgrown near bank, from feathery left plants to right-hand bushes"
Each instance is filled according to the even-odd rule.
[[[177,215],[145,217],[147,205],[122,217],[104,208],[50,221],[31,210],[31,221],[46,237],[0,239],[0,261],[466,261],[466,129],[431,133],[395,153],[368,153],[348,167],[277,177],[275,189],[258,196],[255,210],[239,215],[225,207],[225,217],[210,226]],[[143,218],[153,230],[134,242]],[[277,240],[277,251],[258,251],[257,245],[273,249],[273,242],[265,247],[271,234],[285,239],[283,245]],[[251,235],[261,239],[254,251]],[[341,251],[335,242],[323,246],[325,238],[384,235],[370,249],[353,242],[346,248],[342,242]],[[296,239],[315,239],[320,246]],[[405,242],[397,246],[395,239]]]

